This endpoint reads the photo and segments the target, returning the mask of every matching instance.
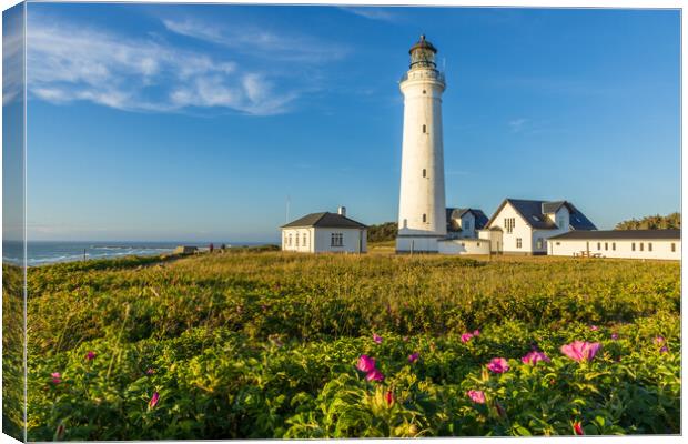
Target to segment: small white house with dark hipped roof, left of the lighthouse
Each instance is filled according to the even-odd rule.
[[[367,226],[337,213],[312,213],[282,225],[282,251],[303,253],[365,253]]]

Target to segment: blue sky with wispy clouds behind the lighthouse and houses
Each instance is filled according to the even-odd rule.
[[[566,199],[600,229],[680,208],[671,10],[28,8],[41,240],[273,241],[396,220],[408,48],[446,67],[448,206]]]

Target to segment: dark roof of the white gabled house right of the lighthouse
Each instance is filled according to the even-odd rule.
[[[570,213],[569,224],[574,230],[597,229],[595,224],[570,202],[530,201],[524,199],[505,199],[489,221],[487,221],[486,226],[494,222],[497,214],[499,214],[499,211],[502,211],[507,203],[510,203],[516,212],[526,221],[526,223],[536,230],[556,230],[558,226],[545,214],[556,212],[559,208],[561,208],[561,205],[566,205],[566,208],[568,208]]]

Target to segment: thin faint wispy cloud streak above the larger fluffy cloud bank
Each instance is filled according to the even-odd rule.
[[[192,18],[163,19],[162,22],[171,32],[231,48],[244,56],[272,61],[318,63],[341,59],[348,52],[342,44],[311,36],[276,33],[252,24],[217,24]]]

